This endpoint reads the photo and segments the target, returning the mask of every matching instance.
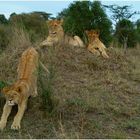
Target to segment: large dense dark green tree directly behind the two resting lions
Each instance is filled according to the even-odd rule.
[[[111,21],[99,1],[76,1],[60,12],[57,18],[64,19],[64,31],[85,39],[85,30],[100,30],[101,40],[108,45],[111,40]]]

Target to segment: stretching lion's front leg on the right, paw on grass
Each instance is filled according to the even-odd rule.
[[[13,130],[20,129],[20,122],[21,122],[23,114],[26,110],[26,107],[27,107],[27,100],[23,101],[20,105],[18,105],[18,112],[14,118],[12,125],[11,125],[11,129],[13,129]]]

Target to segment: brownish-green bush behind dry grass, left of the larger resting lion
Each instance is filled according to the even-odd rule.
[[[43,40],[48,34],[48,28],[45,19],[38,13],[12,14],[10,24],[24,28],[30,36],[32,42]]]

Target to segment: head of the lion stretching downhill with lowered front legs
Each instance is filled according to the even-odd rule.
[[[2,89],[2,93],[5,95],[6,102],[10,106],[19,104],[22,98],[22,88],[21,87],[5,87]]]

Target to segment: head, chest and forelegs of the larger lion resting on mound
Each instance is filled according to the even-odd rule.
[[[64,31],[62,27],[63,20],[49,20],[48,29],[49,35],[45,41],[41,43],[41,46],[55,46],[61,43],[61,39],[64,36]]]

